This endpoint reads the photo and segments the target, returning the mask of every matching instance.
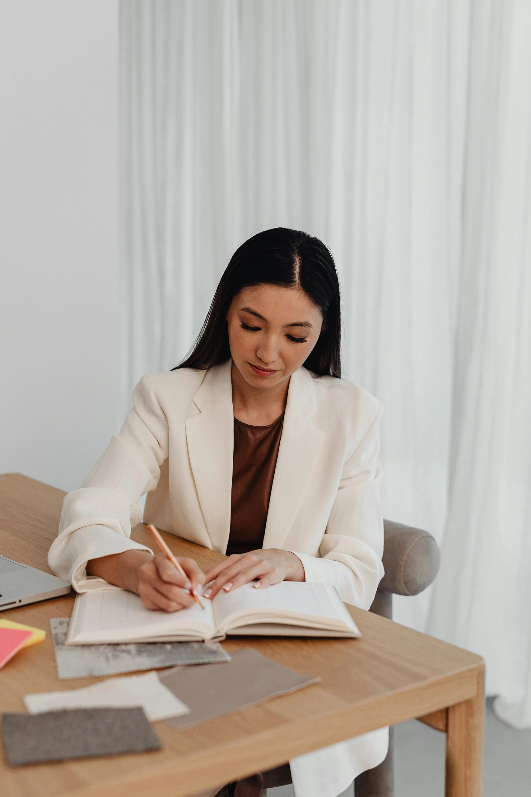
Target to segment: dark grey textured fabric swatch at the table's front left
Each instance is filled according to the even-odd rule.
[[[2,740],[11,766],[162,748],[140,708],[2,714]]]

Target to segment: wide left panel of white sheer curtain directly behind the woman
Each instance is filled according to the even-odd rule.
[[[385,515],[439,540],[459,15],[450,0],[121,6],[124,412],[140,375],[185,355],[232,251],[306,230],[338,265],[345,373],[385,405]],[[428,599],[398,599],[396,617],[424,627]]]

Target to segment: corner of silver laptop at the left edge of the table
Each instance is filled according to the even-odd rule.
[[[0,555],[0,611],[66,595],[71,587],[69,581]]]

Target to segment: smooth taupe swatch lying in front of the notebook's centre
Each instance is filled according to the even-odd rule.
[[[166,720],[174,728],[248,709],[321,680],[295,673],[253,648],[236,650],[226,664],[175,667],[158,678],[190,709],[185,717]]]

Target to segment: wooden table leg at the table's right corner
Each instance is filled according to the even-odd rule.
[[[448,709],[446,797],[481,797],[485,668],[478,672],[475,697]]]

